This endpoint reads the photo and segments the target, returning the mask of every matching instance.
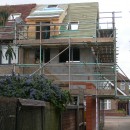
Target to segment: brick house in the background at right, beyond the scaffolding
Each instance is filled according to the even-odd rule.
[[[130,95],[130,79],[119,72],[117,72],[117,99],[105,99],[104,110],[105,115],[120,116],[129,115],[129,99],[124,98]]]

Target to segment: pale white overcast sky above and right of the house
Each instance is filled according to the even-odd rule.
[[[116,13],[117,64],[130,78],[130,0],[1,0],[0,5],[99,2],[100,12]],[[107,22],[107,21],[106,21]]]

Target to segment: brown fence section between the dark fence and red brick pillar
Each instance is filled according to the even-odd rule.
[[[61,115],[61,130],[84,130],[84,107],[68,106]]]

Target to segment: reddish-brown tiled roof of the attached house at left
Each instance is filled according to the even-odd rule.
[[[5,7],[5,6],[0,6],[0,7]],[[9,5],[8,7],[12,9],[11,13],[21,13],[21,19],[25,22],[26,17],[30,14],[32,9],[36,7],[36,4]],[[7,22],[6,26],[10,26],[10,27],[0,28],[0,32],[5,32],[4,34],[0,33],[1,40],[14,38],[13,25],[14,25],[14,22]],[[10,34],[7,32],[9,32]]]

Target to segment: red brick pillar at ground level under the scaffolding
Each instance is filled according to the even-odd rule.
[[[86,97],[86,130],[96,129],[96,99],[92,96]]]

